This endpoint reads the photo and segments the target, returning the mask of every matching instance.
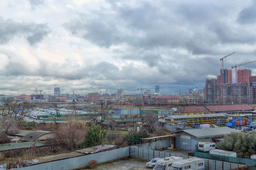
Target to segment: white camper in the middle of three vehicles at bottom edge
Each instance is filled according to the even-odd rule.
[[[183,158],[177,156],[166,157],[163,159],[159,159],[155,164],[155,168],[153,170],[170,170],[172,163],[176,161],[183,160]]]

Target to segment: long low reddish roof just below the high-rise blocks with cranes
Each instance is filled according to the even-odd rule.
[[[249,105],[207,105],[205,106],[210,112],[226,111],[251,111]]]

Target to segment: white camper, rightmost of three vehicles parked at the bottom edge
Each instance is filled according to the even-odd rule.
[[[189,158],[174,162],[171,170],[204,170],[204,159]]]

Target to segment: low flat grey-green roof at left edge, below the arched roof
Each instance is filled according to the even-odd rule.
[[[0,145],[0,151],[7,151],[7,150],[16,150],[19,148],[29,148],[33,147],[34,142],[22,142],[22,143],[8,143],[4,145]],[[35,146],[46,146],[43,143],[35,142]]]

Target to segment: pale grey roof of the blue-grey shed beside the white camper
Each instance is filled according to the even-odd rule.
[[[216,137],[218,135],[231,134],[232,131],[237,131],[228,127],[218,127],[218,128],[207,128],[207,129],[189,129],[182,130],[185,133],[191,134],[197,138],[203,137]]]

